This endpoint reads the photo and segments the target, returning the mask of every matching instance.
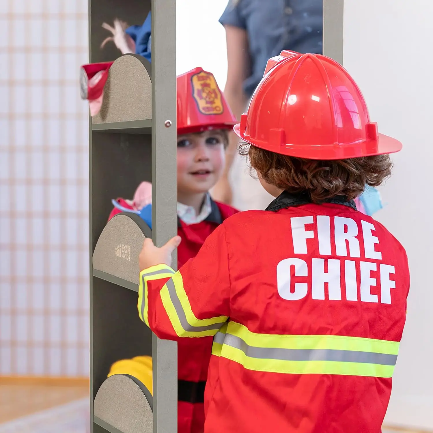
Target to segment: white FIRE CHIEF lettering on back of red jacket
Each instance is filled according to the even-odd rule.
[[[340,216],[292,217],[294,255],[307,257],[278,263],[278,294],[288,301],[299,301],[310,292],[314,300],[391,304],[395,267],[379,263],[382,253],[373,232],[375,226],[364,220],[359,227],[352,218]]]

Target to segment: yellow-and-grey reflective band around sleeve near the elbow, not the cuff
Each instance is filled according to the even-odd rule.
[[[197,319],[184,289],[182,275],[176,272],[160,291],[162,304],[179,337],[214,336],[226,316]]]

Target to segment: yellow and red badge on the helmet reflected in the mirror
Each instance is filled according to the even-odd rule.
[[[215,77],[208,72],[199,72],[191,77],[193,97],[202,114],[222,114],[224,112],[221,91]]]

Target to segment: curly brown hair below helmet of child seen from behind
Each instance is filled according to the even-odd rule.
[[[324,161],[281,155],[248,143],[240,146],[239,154],[248,156],[250,168],[268,184],[292,193],[307,191],[317,204],[338,195],[352,200],[365,184],[379,186],[392,169],[389,155]]]

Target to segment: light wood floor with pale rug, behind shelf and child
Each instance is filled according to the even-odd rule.
[[[87,385],[2,384],[0,433],[88,433]],[[427,433],[385,427],[382,433]]]

